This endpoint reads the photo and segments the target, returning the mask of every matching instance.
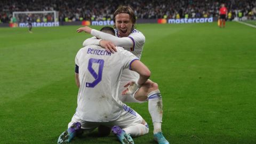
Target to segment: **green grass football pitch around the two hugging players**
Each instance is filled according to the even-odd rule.
[[[0,28],[0,143],[57,143],[75,113],[80,26]],[[100,26],[92,28],[100,29]],[[163,97],[170,143],[256,143],[256,28],[227,22],[137,25],[141,61]],[[106,88],[107,90],[107,88]],[[148,103],[128,103],[149,124],[135,143],[156,143]],[[71,143],[119,143],[97,131]]]

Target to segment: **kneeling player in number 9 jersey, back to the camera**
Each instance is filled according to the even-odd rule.
[[[102,31],[115,34],[111,27],[104,27]],[[75,63],[79,77],[77,109],[58,143],[70,142],[79,130],[91,132],[100,125],[113,126],[112,131],[121,143],[132,144],[131,137],[148,133],[145,120],[118,98],[124,69],[139,74],[134,82],[139,85],[143,85],[150,76],[149,69],[134,54],[122,47],[111,53],[101,46],[89,45],[77,52]]]

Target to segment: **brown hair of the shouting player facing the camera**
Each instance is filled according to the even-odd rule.
[[[119,13],[127,13],[130,15],[130,19],[132,20],[133,27],[136,23],[136,16],[134,11],[130,6],[119,6],[118,9],[114,12],[114,23],[116,23],[116,15]],[[116,25],[114,25],[116,28]]]

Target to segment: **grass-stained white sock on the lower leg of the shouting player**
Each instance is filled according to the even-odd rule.
[[[155,90],[148,94],[148,111],[153,121],[154,134],[161,132],[163,119],[163,101],[159,90]]]

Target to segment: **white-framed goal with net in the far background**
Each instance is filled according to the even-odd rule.
[[[18,27],[27,27],[27,18],[31,17],[33,27],[55,27],[59,26],[59,12],[57,11],[26,11],[13,12],[12,22]]]

